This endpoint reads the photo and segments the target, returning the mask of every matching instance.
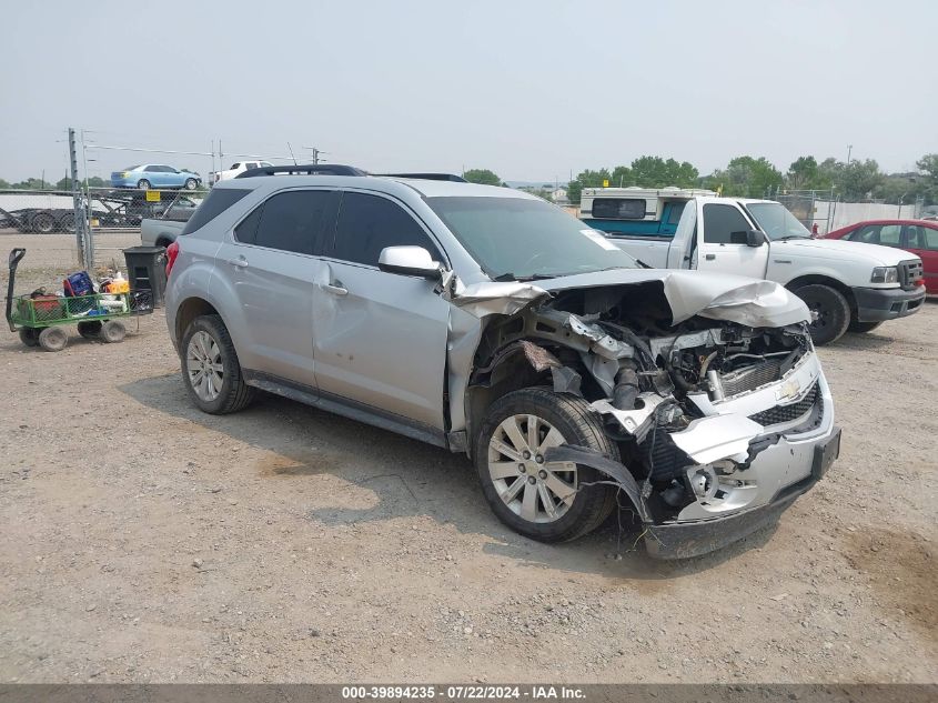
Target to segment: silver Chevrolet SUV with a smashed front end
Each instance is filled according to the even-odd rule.
[[[808,311],[781,287],[647,269],[508,188],[280,170],[215,184],[168,251],[203,411],[261,390],[465,453],[536,540],[628,503],[669,559],[775,521],[837,458]]]

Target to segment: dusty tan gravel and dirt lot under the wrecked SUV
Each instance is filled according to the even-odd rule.
[[[0,237],[20,291],[53,240]],[[938,682],[938,304],[820,354],[839,462],[669,564],[520,538],[464,458],[288,400],[201,414],[159,312],[59,354],[6,332],[0,681]]]

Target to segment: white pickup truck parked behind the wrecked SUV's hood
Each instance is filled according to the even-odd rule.
[[[687,197],[672,235],[628,233],[623,227],[623,220],[631,219],[623,217],[628,208],[603,200],[598,189],[588,201],[584,198],[582,219],[603,230],[619,249],[655,269],[719,271],[781,283],[810,309],[811,338],[818,345],[839,339],[848,329],[869,332],[885,320],[910,315],[925,300],[921,259],[915,254],[811,239],[775,201]],[[639,209],[645,210],[636,207],[635,215]]]

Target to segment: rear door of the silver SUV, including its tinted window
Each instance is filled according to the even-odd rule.
[[[248,368],[307,389],[315,388],[313,282],[323,265],[315,253],[337,199],[332,190],[274,193],[218,254],[218,274],[229,278],[244,317]]]

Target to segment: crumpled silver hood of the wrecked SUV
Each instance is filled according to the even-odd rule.
[[[807,305],[778,283],[705,271],[615,269],[557,279],[484,282],[460,287],[451,302],[476,318],[514,314],[535,300],[572,289],[660,284],[673,324],[700,315],[753,328],[779,328],[809,320]],[[623,291],[626,292],[625,290]]]

